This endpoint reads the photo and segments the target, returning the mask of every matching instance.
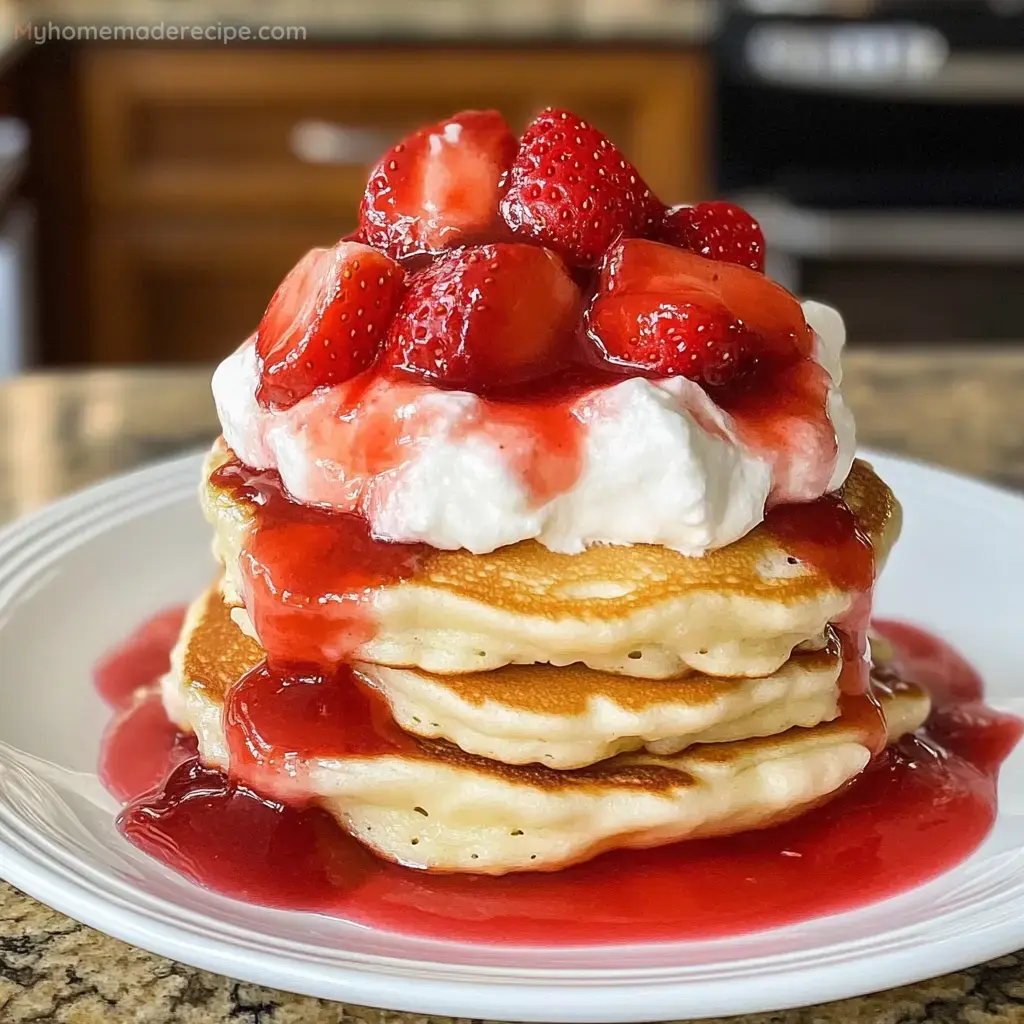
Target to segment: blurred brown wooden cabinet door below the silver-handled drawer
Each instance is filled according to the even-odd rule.
[[[299,256],[342,217],[254,222],[113,218],[89,241],[93,362],[210,362],[256,329]]]

